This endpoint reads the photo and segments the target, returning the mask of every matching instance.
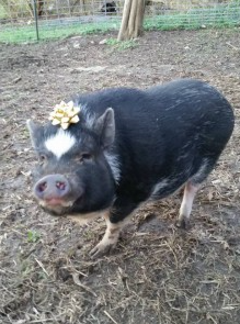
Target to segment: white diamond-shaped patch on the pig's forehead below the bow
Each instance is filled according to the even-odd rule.
[[[76,138],[67,131],[59,129],[58,132],[46,139],[45,146],[58,159],[76,144]]]

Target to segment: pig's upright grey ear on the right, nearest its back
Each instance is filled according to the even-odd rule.
[[[112,108],[107,110],[96,120],[95,131],[101,138],[103,148],[110,147],[115,138],[115,120]]]

